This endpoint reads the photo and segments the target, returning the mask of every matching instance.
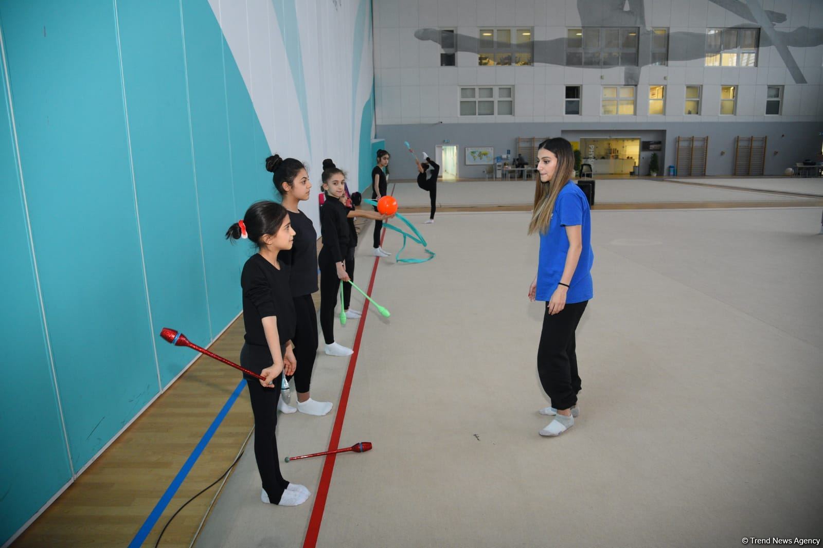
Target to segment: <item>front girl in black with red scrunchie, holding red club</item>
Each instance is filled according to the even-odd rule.
[[[265,377],[244,374],[254,414],[254,457],[263,483],[260,499],[281,506],[297,506],[311,495],[304,485],[283,478],[275,435],[282,375],[294,374],[297,366],[289,267],[277,260],[281,251],[291,249],[294,236],[289,213],[277,202],[253,203],[243,219],[226,230],[227,239],[248,238],[258,249],[240,274],[246,330],[240,364]]]

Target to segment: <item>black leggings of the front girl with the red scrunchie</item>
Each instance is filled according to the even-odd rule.
[[[272,365],[272,355],[266,346],[243,345],[240,351],[240,365],[259,372]],[[243,375],[249,388],[249,399],[254,414],[254,458],[258,463],[263,490],[272,504],[280,502],[289,482],[280,471],[280,457],[277,455],[277,398],[280,397],[282,374],[274,379],[272,388],[263,388],[257,378]]]

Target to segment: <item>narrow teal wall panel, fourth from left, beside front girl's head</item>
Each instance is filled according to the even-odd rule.
[[[239,276],[242,262],[237,246],[224,237],[239,217],[231,182],[223,34],[214,12],[203,0],[183,1],[183,22],[209,315],[212,334],[216,335],[243,309]]]

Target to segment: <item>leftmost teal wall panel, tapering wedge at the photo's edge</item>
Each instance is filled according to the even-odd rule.
[[[0,26],[5,5],[0,3]],[[5,29],[3,29],[5,34]],[[57,404],[0,70],[0,545],[72,479]]]

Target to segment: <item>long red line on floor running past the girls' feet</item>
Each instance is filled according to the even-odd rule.
[[[392,189],[393,190],[393,189]],[[386,237],[386,229],[383,229],[383,234],[380,235],[380,244],[383,245],[383,240]],[[365,291],[371,295],[371,290],[374,287],[374,276],[377,276],[377,265],[380,258],[374,258],[374,267],[371,269],[371,280],[369,281],[369,288]],[[357,365],[357,355],[360,354],[360,338],[363,336],[363,327],[365,326],[365,318],[369,313],[369,300],[363,303],[363,313],[360,318],[360,324],[357,326],[357,334],[355,336],[355,344],[352,346],[351,359],[349,360],[349,369],[346,371],[346,380],[343,382],[343,390],[340,394],[340,403],[337,404],[337,415],[334,417],[334,427],[332,428],[332,439],[328,441],[328,451],[338,449],[337,444],[340,443],[340,431],[343,430],[343,420],[346,418],[346,406],[349,403],[349,392],[351,390],[351,379],[355,375],[355,366]],[[328,487],[332,483],[332,472],[334,471],[334,460],[336,455],[328,455],[326,462],[323,463],[323,472],[320,474],[320,485],[317,488],[317,494],[314,495],[314,507],[311,510],[311,517],[309,517],[309,527],[306,530],[305,541],[303,541],[303,548],[314,548],[317,546],[317,537],[320,534],[320,524],[323,522],[323,510],[326,509],[326,497],[328,496]]]

